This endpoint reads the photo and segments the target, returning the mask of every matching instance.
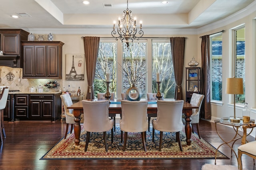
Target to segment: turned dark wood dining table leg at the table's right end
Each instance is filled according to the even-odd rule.
[[[191,133],[192,133],[192,125],[191,125],[191,115],[192,109],[185,109],[185,133],[186,133],[186,142],[187,145],[191,145]]]

